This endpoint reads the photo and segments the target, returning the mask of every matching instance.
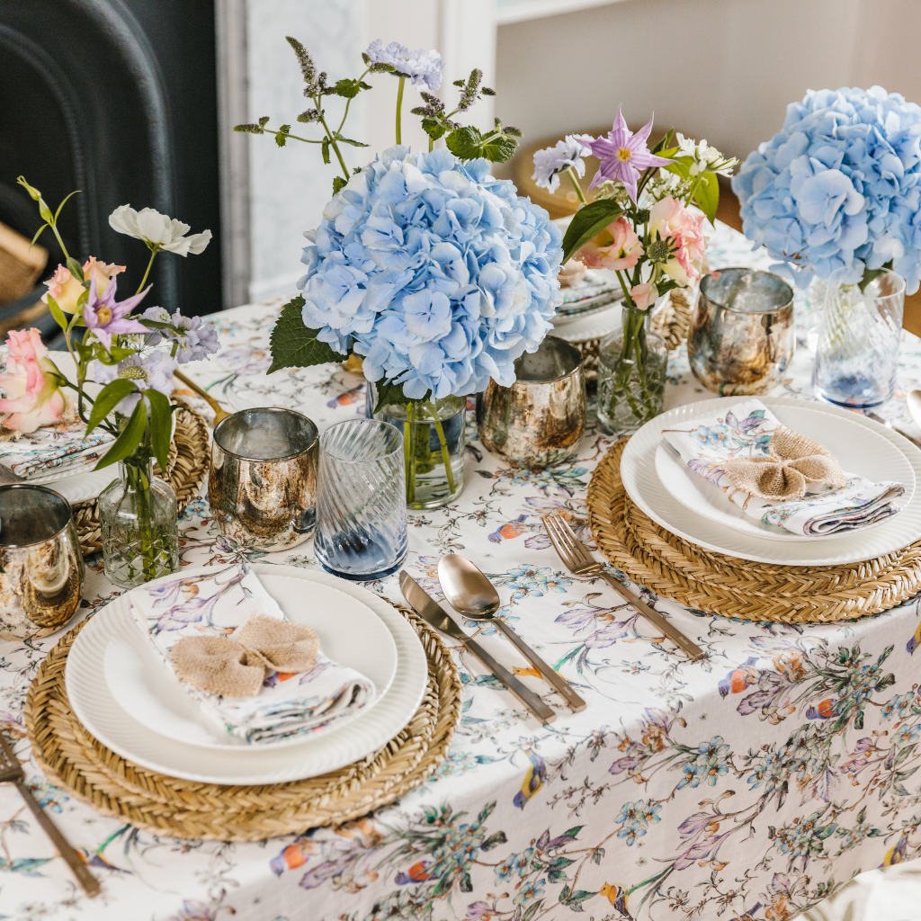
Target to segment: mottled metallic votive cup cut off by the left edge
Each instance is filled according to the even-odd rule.
[[[53,633],[76,612],[82,589],[70,503],[47,486],[0,486],[0,637]]]

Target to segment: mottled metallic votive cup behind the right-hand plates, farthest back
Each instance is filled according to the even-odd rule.
[[[796,348],[793,289],[770,272],[719,269],[704,275],[688,334],[694,377],[720,396],[766,393]]]

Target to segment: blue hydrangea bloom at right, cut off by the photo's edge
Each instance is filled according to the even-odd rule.
[[[921,107],[882,87],[810,90],[732,179],[745,236],[797,285],[921,276]]]

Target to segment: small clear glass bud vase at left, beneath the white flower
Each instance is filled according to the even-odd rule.
[[[153,458],[119,463],[119,478],[99,494],[106,577],[132,589],[179,568],[176,494],[154,476]]]

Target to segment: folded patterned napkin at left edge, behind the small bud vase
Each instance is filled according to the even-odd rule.
[[[79,419],[42,426],[19,437],[8,429],[0,429],[0,466],[23,480],[72,471],[76,467],[90,470],[113,436],[97,428],[87,438],[86,431],[87,426]]]

